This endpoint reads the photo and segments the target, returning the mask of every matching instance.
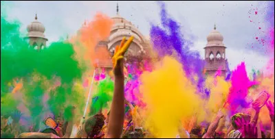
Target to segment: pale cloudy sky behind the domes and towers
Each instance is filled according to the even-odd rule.
[[[259,48],[256,36],[263,36],[266,29],[263,1],[164,1],[168,14],[181,23],[182,32],[194,39],[192,49],[201,53],[212,31],[214,23],[223,34],[223,43],[230,69],[245,61],[247,70],[262,68],[268,56]],[[91,21],[96,12],[112,17],[116,14],[117,1],[9,1],[6,5],[8,18],[18,19],[22,31],[38,14],[38,20],[45,25],[45,36],[49,42],[61,36],[75,34],[84,21]],[[149,36],[150,23],[159,23],[159,6],[155,1],[118,1],[120,16],[131,21],[144,36]],[[254,14],[253,9],[258,14]],[[250,10],[252,10],[251,13]],[[249,17],[250,16],[250,17]],[[252,22],[250,22],[252,21]],[[264,23],[263,23],[264,22]],[[261,29],[259,29],[261,27]],[[254,44],[252,48],[251,44]],[[257,44],[258,45],[255,45]]]

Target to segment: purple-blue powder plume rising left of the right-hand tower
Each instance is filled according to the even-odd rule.
[[[165,4],[159,2],[161,7],[161,25],[151,25],[150,36],[153,42],[153,47],[159,53],[160,56],[173,55],[173,51],[177,52],[176,56],[179,56],[184,71],[189,79],[197,84],[199,92],[203,92],[203,66],[204,60],[200,58],[198,51],[191,51],[192,42],[185,39],[184,34],[181,34],[179,23],[170,18],[166,12]],[[188,65],[188,66],[187,66]],[[198,77],[195,81],[195,77]]]

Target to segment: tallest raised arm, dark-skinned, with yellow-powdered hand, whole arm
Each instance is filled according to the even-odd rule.
[[[124,121],[124,73],[123,56],[133,41],[133,36],[125,42],[123,38],[120,47],[115,48],[113,55],[113,73],[115,77],[115,88],[113,92],[113,101],[111,103],[111,112],[109,125],[107,129],[107,138],[120,138]]]

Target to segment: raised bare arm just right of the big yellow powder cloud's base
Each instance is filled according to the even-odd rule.
[[[219,112],[217,113],[216,118],[214,118],[214,121],[212,121],[212,123],[210,123],[206,134],[204,134],[202,138],[211,138],[212,134],[217,129],[217,127],[219,125],[219,120],[221,118],[223,118],[223,113],[221,112],[221,110],[219,110]]]

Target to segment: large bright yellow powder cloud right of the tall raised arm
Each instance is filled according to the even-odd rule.
[[[147,110],[145,127],[156,138],[175,138],[181,118],[198,110],[199,97],[177,60],[164,57],[156,66],[155,71],[140,77]]]

